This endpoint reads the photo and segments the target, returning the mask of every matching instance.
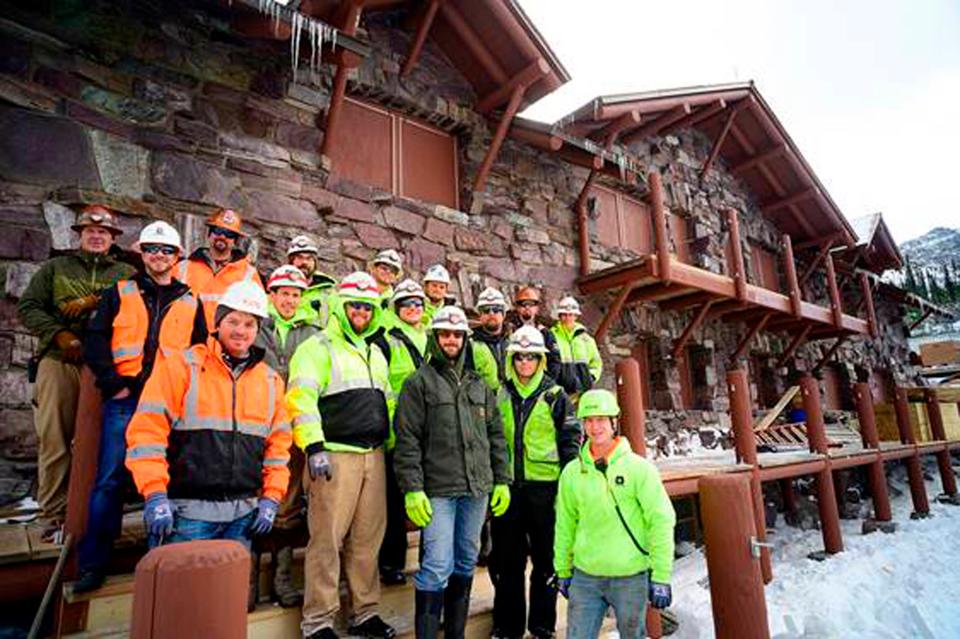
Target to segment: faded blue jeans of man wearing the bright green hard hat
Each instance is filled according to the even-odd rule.
[[[647,573],[630,577],[594,577],[574,569],[567,604],[567,639],[596,639],[608,606],[617,615],[621,639],[644,639],[647,622]]]

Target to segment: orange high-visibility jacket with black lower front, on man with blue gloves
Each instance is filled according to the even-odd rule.
[[[262,359],[235,374],[216,339],[158,362],[127,427],[137,490],[282,501],[292,440],[283,396],[283,380]]]

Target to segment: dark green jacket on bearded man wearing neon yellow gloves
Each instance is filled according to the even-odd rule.
[[[400,490],[431,497],[481,496],[509,484],[510,463],[493,391],[450,362],[430,337],[428,359],[403,385],[394,425],[393,466]]]

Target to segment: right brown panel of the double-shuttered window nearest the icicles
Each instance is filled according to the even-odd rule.
[[[448,133],[400,122],[400,195],[457,208],[457,143]]]

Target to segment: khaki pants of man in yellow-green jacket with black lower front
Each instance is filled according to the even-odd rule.
[[[387,526],[383,449],[328,454],[332,480],[311,480],[304,471],[310,528],[300,626],[304,637],[334,624],[340,609],[341,561],[351,623],[373,616],[380,603],[377,554]]]

